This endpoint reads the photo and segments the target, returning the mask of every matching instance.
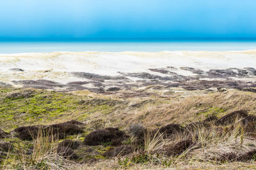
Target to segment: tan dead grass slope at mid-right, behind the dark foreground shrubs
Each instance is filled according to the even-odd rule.
[[[156,97],[141,101],[136,98],[128,105],[120,106],[112,113],[90,115],[87,122],[101,122],[102,127],[124,127],[141,122],[145,127],[153,129],[162,125],[189,124],[216,115],[218,118],[237,110],[249,110],[256,115],[256,94],[230,90],[225,93],[215,92],[191,97]],[[132,107],[136,106],[138,107]]]

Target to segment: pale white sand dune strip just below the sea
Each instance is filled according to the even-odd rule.
[[[180,80],[180,76],[188,77],[186,81],[224,79],[255,82],[255,66],[256,50],[14,53],[0,54],[0,81],[2,84],[7,83],[15,87],[24,85],[24,82],[17,82],[23,80],[48,80],[67,84],[74,81],[95,81],[94,74],[97,74],[97,81],[101,79],[100,81],[105,82],[104,88],[122,84],[120,81],[107,83],[113,79],[116,80],[115,76],[125,76],[124,79],[130,82],[139,80],[180,82],[183,81],[183,79]],[[218,73],[210,73],[211,70]],[[141,76],[141,73],[144,75]],[[145,73],[148,74],[145,75]],[[174,74],[179,78],[177,76],[173,78]],[[102,78],[99,75],[107,77]],[[168,78],[170,75],[172,75],[171,78]],[[92,83],[83,84],[83,87],[93,86],[95,85]],[[99,83],[97,87],[100,87]]]

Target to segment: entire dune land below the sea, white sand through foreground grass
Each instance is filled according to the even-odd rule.
[[[1,169],[255,169],[256,51],[0,54]]]

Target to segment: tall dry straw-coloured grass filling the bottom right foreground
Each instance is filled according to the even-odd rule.
[[[79,167],[73,165],[76,169],[164,169],[166,167],[173,169],[253,169],[255,162],[236,162],[227,160],[217,162],[224,153],[236,152],[246,153],[256,147],[255,139],[247,134],[237,134],[237,129],[226,132],[225,134],[216,134],[212,129],[196,127],[196,131],[190,133],[195,145],[184,150],[175,157],[166,157],[164,147],[166,145],[175,145],[178,141],[188,138],[188,134],[175,134],[172,139],[164,139],[163,134],[157,133],[155,136],[145,135],[145,153],[150,155],[150,160],[142,164],[132,163],[131,160],[127,166],[120,165],[120,159],[101,160],[94,164],[84,164]],[[125,160],[127,158],[121,158]]]

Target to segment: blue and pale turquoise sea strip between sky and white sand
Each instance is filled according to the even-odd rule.
[[[28,52],[162,52],[255,50],[256,40],[93,40],[93,41],[0,41],[0,53]]]

